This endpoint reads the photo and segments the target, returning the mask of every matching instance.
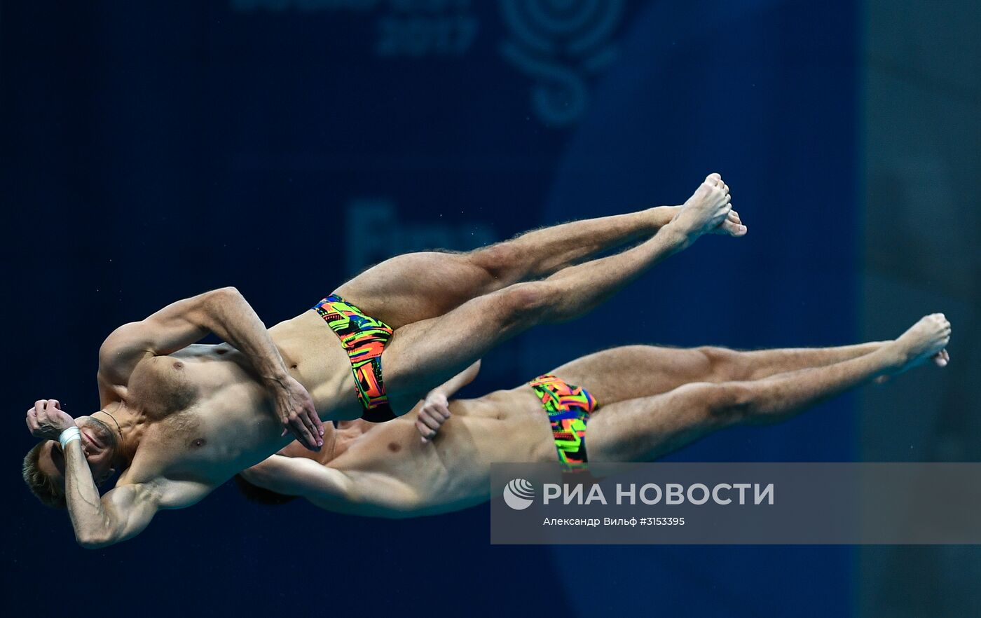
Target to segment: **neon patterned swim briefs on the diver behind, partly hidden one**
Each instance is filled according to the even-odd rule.
[[[548,414],[559,461],[570,466],[589,461],[586,424],[596,409],[595,397],[586,388],[568,385],[551,374],[539,376],[528,385],[542,400],[542,408]]]

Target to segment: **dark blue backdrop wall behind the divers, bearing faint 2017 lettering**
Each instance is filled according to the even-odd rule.
[[[69,595],[148,616],[851,612],[849,548],[498,547],[486,506],[388,522],[263,509],[227,486],[86,552],[14,472],[26,407],[95,409],[102,338],[178,297],[234,284],[273,324],[388,254],[678,203],[712,171],[746,238],[705,238],[593,316],[508,343],[467,392],[619,343],[852,341],[851,3],[0,11],[4,613]],[[843,398],[675,458],[848,460],[853,428]]]

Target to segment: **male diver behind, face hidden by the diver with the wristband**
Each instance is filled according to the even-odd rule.
[[[329,427],[319,453],[288,444],[236,481],[256,501],[302,496],[353,515],[460,510],[490,498],[491,463],[653,461],[726,427],[784,421],[931,358],[944,367],[950,336],[947,319],[933,314],[895,340],[844,347],[628,345],[447,407],[446,397],[473,379],[475,365],[410,414],[385,425],[341,422]]]

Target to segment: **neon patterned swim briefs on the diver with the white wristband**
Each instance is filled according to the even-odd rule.
[[[384,423],[395,418],[382,380],[382,352],[391,338],[391,327],[366,316],[336,294],[321,300],[313,308],[340,338],[340,345],[351,361],[358,401],[364,409],[361,418],[371,423]]]

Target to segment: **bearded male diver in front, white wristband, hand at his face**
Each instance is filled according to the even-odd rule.
[[[268,332],[234,288],[180,300],[103,342],[99,410],[73,419],[55,399],[28,409],[44,441],[24,478],[67,506],[82,546],[127,540],[283,448],[285,430],[317,449],[322,420],[392,419],[494,345],[591,311],[708,232],[746,233],[717,174],[682,206],[392,258]],[[209,333],[226,343],[194,344]]]

